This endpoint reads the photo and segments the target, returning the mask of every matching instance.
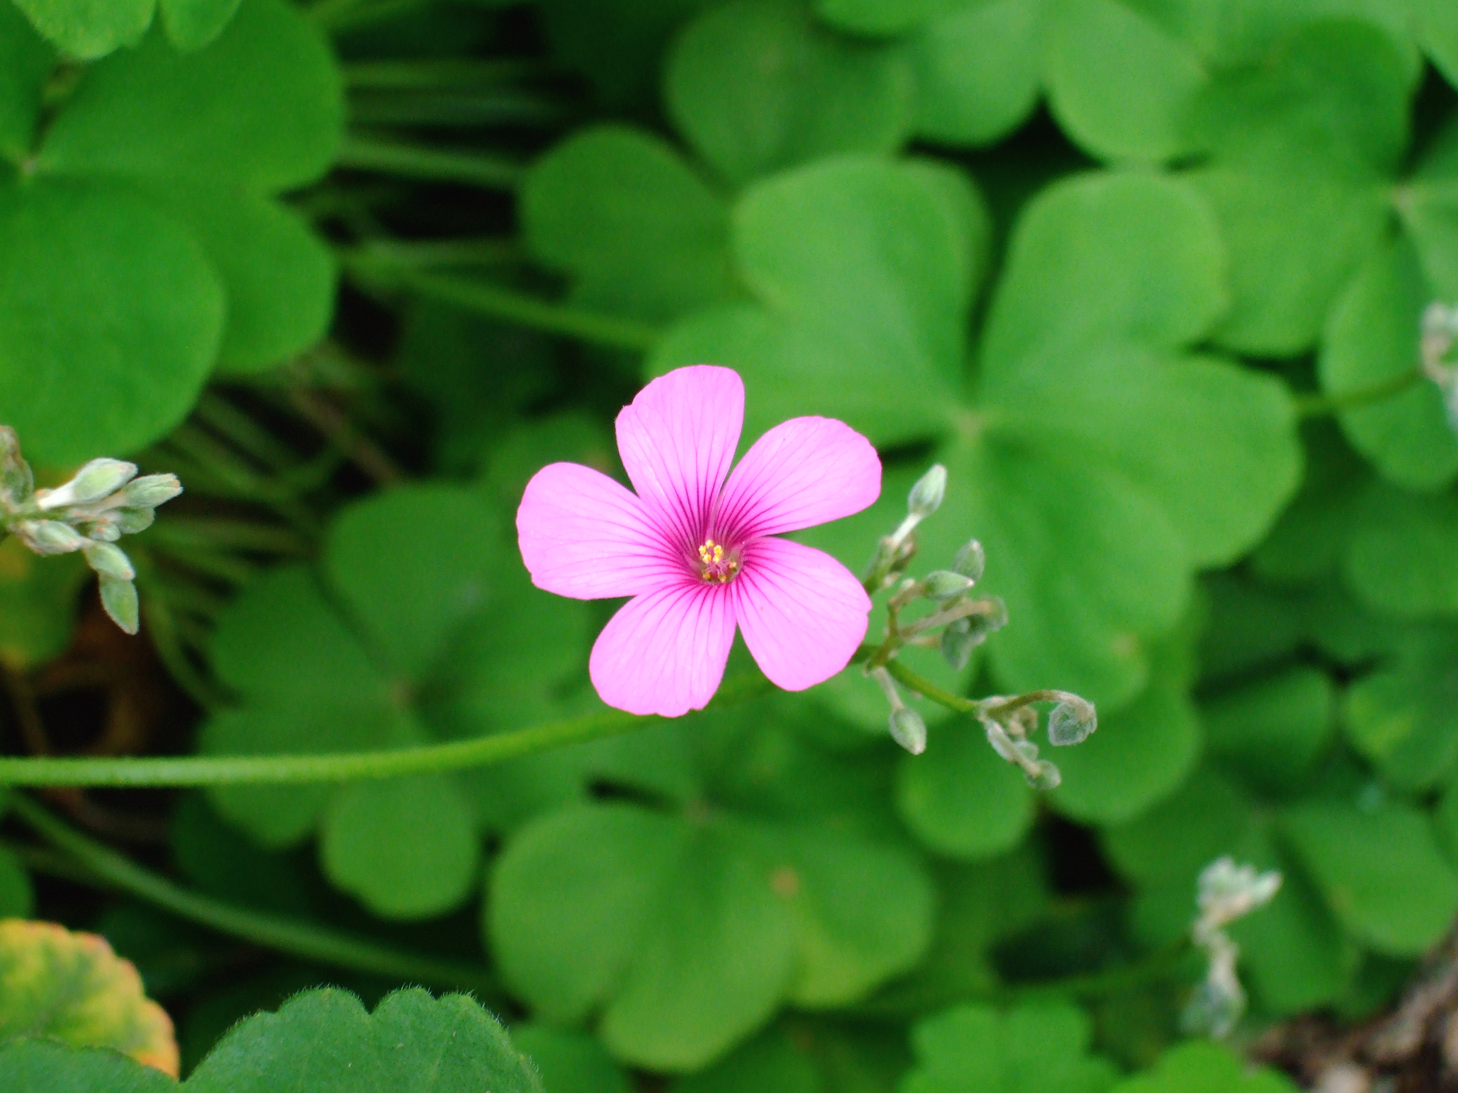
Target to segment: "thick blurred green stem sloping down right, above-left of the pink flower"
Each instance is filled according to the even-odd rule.
[[[354,273],[382,284],[398,286],[427,299],[452,303],[456,307],[531,326],[547,334],[561,334],[611,348],[640,353],[652,350],[660,335],[659,328],[647,322],[541,300],[499,284],[405,270],[359,252],[344,254],[341,259]]]

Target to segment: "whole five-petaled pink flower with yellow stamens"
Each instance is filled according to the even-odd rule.
[[[736,372],[678,369],[618,414],[636,494],[577,463],[544,466],[526,485],[516,530],[532,583],[574,599],[633,598],[592,647],[592,685],[608,705],[701,710],[736,625],[787,691],[840,672],[866,634],[870,599],[850,570],[774,536],[875,501],[876,450],[841,421],[798,417],[729,474],[742,426]]]

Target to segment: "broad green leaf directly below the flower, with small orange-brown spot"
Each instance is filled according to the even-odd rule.
[[[917,962],[932,886],[878,807],[881,761],[835,761],[787,717],[824,714],[691,718],[693,772],[662,807],[580,804],[507,839],[486,927],[542,1019],[595,1016],[620,1059],[695,1070],[786,1001],[840,1006]]]

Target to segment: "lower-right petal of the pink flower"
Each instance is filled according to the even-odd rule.
[[[725,587],[745,644],[776,686],[803,691],[850,663],[866,635],[870,598],[824,551],[789,539],[758,539]]]

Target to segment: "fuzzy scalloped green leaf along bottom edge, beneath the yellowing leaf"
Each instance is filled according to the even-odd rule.
[[[4,1090],[178,1089],[149,1074],[120,1055],[48,1041],[0,1048]],[[464,994],[432,998],[420,990],[388,995],[373,1014],[347,991],[305,991],[278,1013],[236,1025],[181,1084],[190,1093],[271,1093],[284,1087],[311,1093],[541,1093],[531,1061],[475,1001]]]

